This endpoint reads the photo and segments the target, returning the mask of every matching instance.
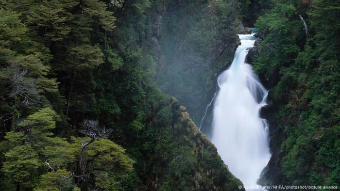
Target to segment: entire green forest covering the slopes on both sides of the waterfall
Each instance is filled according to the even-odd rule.
[[[198,127],[245,27],[270,100],[260,184],[339,188],[339,17],[338,0],[0,0],[0,190],[244,190]]]

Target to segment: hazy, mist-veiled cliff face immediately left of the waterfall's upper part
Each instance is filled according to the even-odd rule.
[[[219,69],[232,61],[239,43],[236,33],[246,30],[236,13],[224,10],[226,5],[170,2],[153,12],[148,38],[157,63],[156,82],[186,106],[196,124],[215,90]]]

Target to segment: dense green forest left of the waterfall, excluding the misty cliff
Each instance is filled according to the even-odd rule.
[[[0,1],[0,190],[238,189],[185,108],[153,82],[153,21],[183,3]],[[219,25],[231,27],[236,4],[211,3],[219,22],[236,15]]]

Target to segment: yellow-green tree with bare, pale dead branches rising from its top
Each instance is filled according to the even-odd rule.
[[[81,133],[87,137],[72,138],[69,149],[78,155],[75,177],[83,190],[88,186],[108,189],[133,169],[134,161],[124,154],[125,149],[105,139],[111,132],[97,121],[85,120]]]

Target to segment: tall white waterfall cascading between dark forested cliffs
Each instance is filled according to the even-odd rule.
[[[231,173],[244,186],[256,187],[271,157],[267,122],[259,116],[268,91],[252,66],[245,63],[249,48],[254,47],[254,33],[238,36],[241,45],[233,63],[218,77],[220,90],[214,102],[211,141]]]

